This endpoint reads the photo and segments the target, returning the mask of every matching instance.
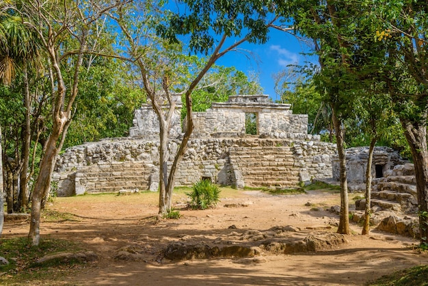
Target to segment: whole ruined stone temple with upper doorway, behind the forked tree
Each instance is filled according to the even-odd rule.
[[[183,136],[176,98],[170,131],[170,164]],[[332,177],[336,145],[308,134],[308,116],[267,95],[230,96],[193,114],[194,130],[176,185],[211,179],[219,185],[292,187]],[[185,124],[183,125],[185,126]],[[53,180],[58,196],[132,190],[156,191],[159,181],[159,122],[150,104],[135,111],[129,137],[106,138],[66,149]]]

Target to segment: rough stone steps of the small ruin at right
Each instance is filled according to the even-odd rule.
[[[418,209],[414,176],[389,176],[373,180],[371,205],[415,214]]]

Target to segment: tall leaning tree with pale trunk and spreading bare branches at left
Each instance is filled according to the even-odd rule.
[[[51,133],[46,140],[40,162],[40,172],[34,183],[31,203],[29,240],[35,246],[40,242],[40,210],[42,200],[49,192],[51,173],[56,156],[64,143],[70,125],[72,108],[79,86],[79,73],[83,55],[93,46],[91,35],[94,23],[122,1],[14,1],[6,3],[14,11],[27,17],[25,25],[31,27],[42,42],[51,71]],[[64,40],[72,39],[71,44]],[[62,67],[72,65],[72,77],[64,77]],[[69,90],[67,89],[69,87]]]

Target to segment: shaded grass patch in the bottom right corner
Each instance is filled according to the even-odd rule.
[[[428,285],[428,265],[408,268],[367,283],[369,286]]]

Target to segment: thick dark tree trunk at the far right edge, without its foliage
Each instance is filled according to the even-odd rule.
[[[404,135],[410,146],[418,193],[420,244],[428,244],[428,150],[425,120],[410,122],[400,118]]]

